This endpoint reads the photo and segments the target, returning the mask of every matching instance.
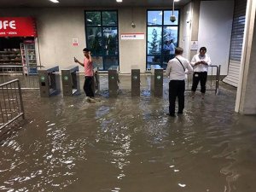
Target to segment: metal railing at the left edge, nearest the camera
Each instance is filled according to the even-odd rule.
[[[25,119],[20,80],[0,84],[0,131],[20,117]]]

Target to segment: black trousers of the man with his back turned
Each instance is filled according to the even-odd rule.
[[[178,101],[177,113],[183,113],[184,108],[184,92],[185,81],[184,80],[171,80],[169,82],[169,113],[175,113],[176,97]]]

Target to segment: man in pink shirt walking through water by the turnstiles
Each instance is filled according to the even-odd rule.
[[[93,85],[93,65],[92,65],[92,60],[91,60],[91,54],[90,50],[87,48],[83,49],[84,52],[84,63],[80,62],[74,57],[74,61],[78,62],[81,66],[84,67],[84,92],[85,95],[87,96],[87,101],[88,102],[96,102],[94,97],[94,91],[92,90],[92,85]]]

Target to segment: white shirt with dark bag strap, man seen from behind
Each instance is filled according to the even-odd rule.
[[[181,55],[176,56],[179,61],[182,62],[183,67],[187,69],[187,72],[184,72],[184,69],[180,62],[174,57],[172,60],[168,62],[166,68],[166,75],[169,77],[170,80],[184,80],[185,74],[192,73],[193,68],[189,64],[189,60],[185,59]]]

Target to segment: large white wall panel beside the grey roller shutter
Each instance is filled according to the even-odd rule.
[[[233,1],[201,2],[199,48],[207,47],[212,65],[221,65],[221,75],[228,72],[233,7]]]

